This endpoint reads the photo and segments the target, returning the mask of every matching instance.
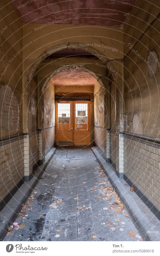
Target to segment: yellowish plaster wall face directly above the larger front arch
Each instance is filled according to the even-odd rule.
[[[24,24],[24,44],[32,40],[32,55],[29,56],[30,60],[37,59],[42,52],[50,47],[57,46],[62,43],[78,42],[79,47],[86,50],[86,44],[92,44],[92,47],[101,52],[104,56],[109,58],[122,58],[123,57],[123,30],[119,27],[95,27],[95,26],[74,26],[74,25],[49,25],[42,29],[35,30],[40,24]],[[32,33],[30,33],[32,32]],[[30,33],[29,35],[27,35]],[[48,44],[46,44],[46,35]],[[102,35],[107,35],[102,37]],[[54,40],[56,38],[56,40]],[[35,41],[34,41],[35,40]],[[84,44],[84,45],[82,45]],[[113,49],[106,49],[104,46],[110,46]],[[78,45],[77,45],[78,46]],[[35,51],[35,49],[37,49]],[[29,49],[28,49],[29,50]],[[28,50],[24,55],[24,59],[28,57]],[[61,49],[59,49],[61,50]]]

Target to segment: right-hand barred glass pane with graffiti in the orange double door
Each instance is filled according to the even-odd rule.
[[[88,130],[88,103],[76,103],[76,130]]]

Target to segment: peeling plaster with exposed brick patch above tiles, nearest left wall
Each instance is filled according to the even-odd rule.
[[[9,4],[8,4],[9,3]],[[4,7],[5,6],[5,7]],[[22,54],[21,51],[23,47],[22,37],[23,37],[23,29],[22,29],[22,21],[19,19],[17,12],[14,9],[12,3],[9,0],[0,2],[0,8],[3,7],[3,11],[0,14],[0,27],[3,28],[7,27],[3,33],[0,35],[0,58],[2,61],[0,62],[0,78],[1,78],[1,85],[5,86],[8,85],[11,90],[13,91],[13,100],[16,98],[16,105],[17,101],[20,103],[22,91]],[[4,15],[5,14],[5,15]],[[8,19],[9,14],[9,19]],[[3,16],[2,16],[3,15]],[[12,25],[10,25],[13,22]],[[0,89],[3,91],[2,87]],[[2,92],[3,93],[3,92]],[[9,91],[8,91],[9,93]],[[10,93],[9,93],[10,94]],[[9,95],[10,98],[10,95]],[[8,102],[10,104],[10,102]],[[10,113],[8,112],[9,108],[4,112],[2,112],[2,120],[4,118],[9,117],[8,120],[5,120],[6,123],[10,123],[13,121],[12,119],[12,110]],[[14,108],[13,112],[16,109]],[[14,113],[15,115],[16,113]],[[9,135],[15,133],[21,133],[23,131],[23,123],[22,123],[22,107],[20,111],[20,130],[17,128],[11,128],[11,132],[9,133],[8,128],[4,128],[2,132],[3,137],[7,137]],[[11,121],[12,120],[12,121]],[[16,121],[14,120],[16,125]],[[14,124],[13,124],[14,125]],[[12,126],[13,126],[12,125]]]

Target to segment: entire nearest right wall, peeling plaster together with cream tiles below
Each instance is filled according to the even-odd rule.
[[[141,20],[130,17],[129,24],[124,26],[124,52],[127,54],[124,78],[131,88],[129,91],[124,84],[124,131],[128,133],[124,136],[124,175],[145,195],[146,201],[160,210],[159,147],[156,141],[149,141],[160,138],[160,50],[156,44],[159,42],[159,19],[155,7],[160,1],[155,0],[155,5],[146,1],[137,3],[141,9],[134,8],[131,14]],[[131,26],[133,22],[134,27]],[[135,43],[132,36],[139,41]],[[138,135],[145,137],[139,140]]]

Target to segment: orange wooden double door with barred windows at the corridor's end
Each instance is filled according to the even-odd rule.
[[[90,144],[90,102],[55,101],[57,145]]]

